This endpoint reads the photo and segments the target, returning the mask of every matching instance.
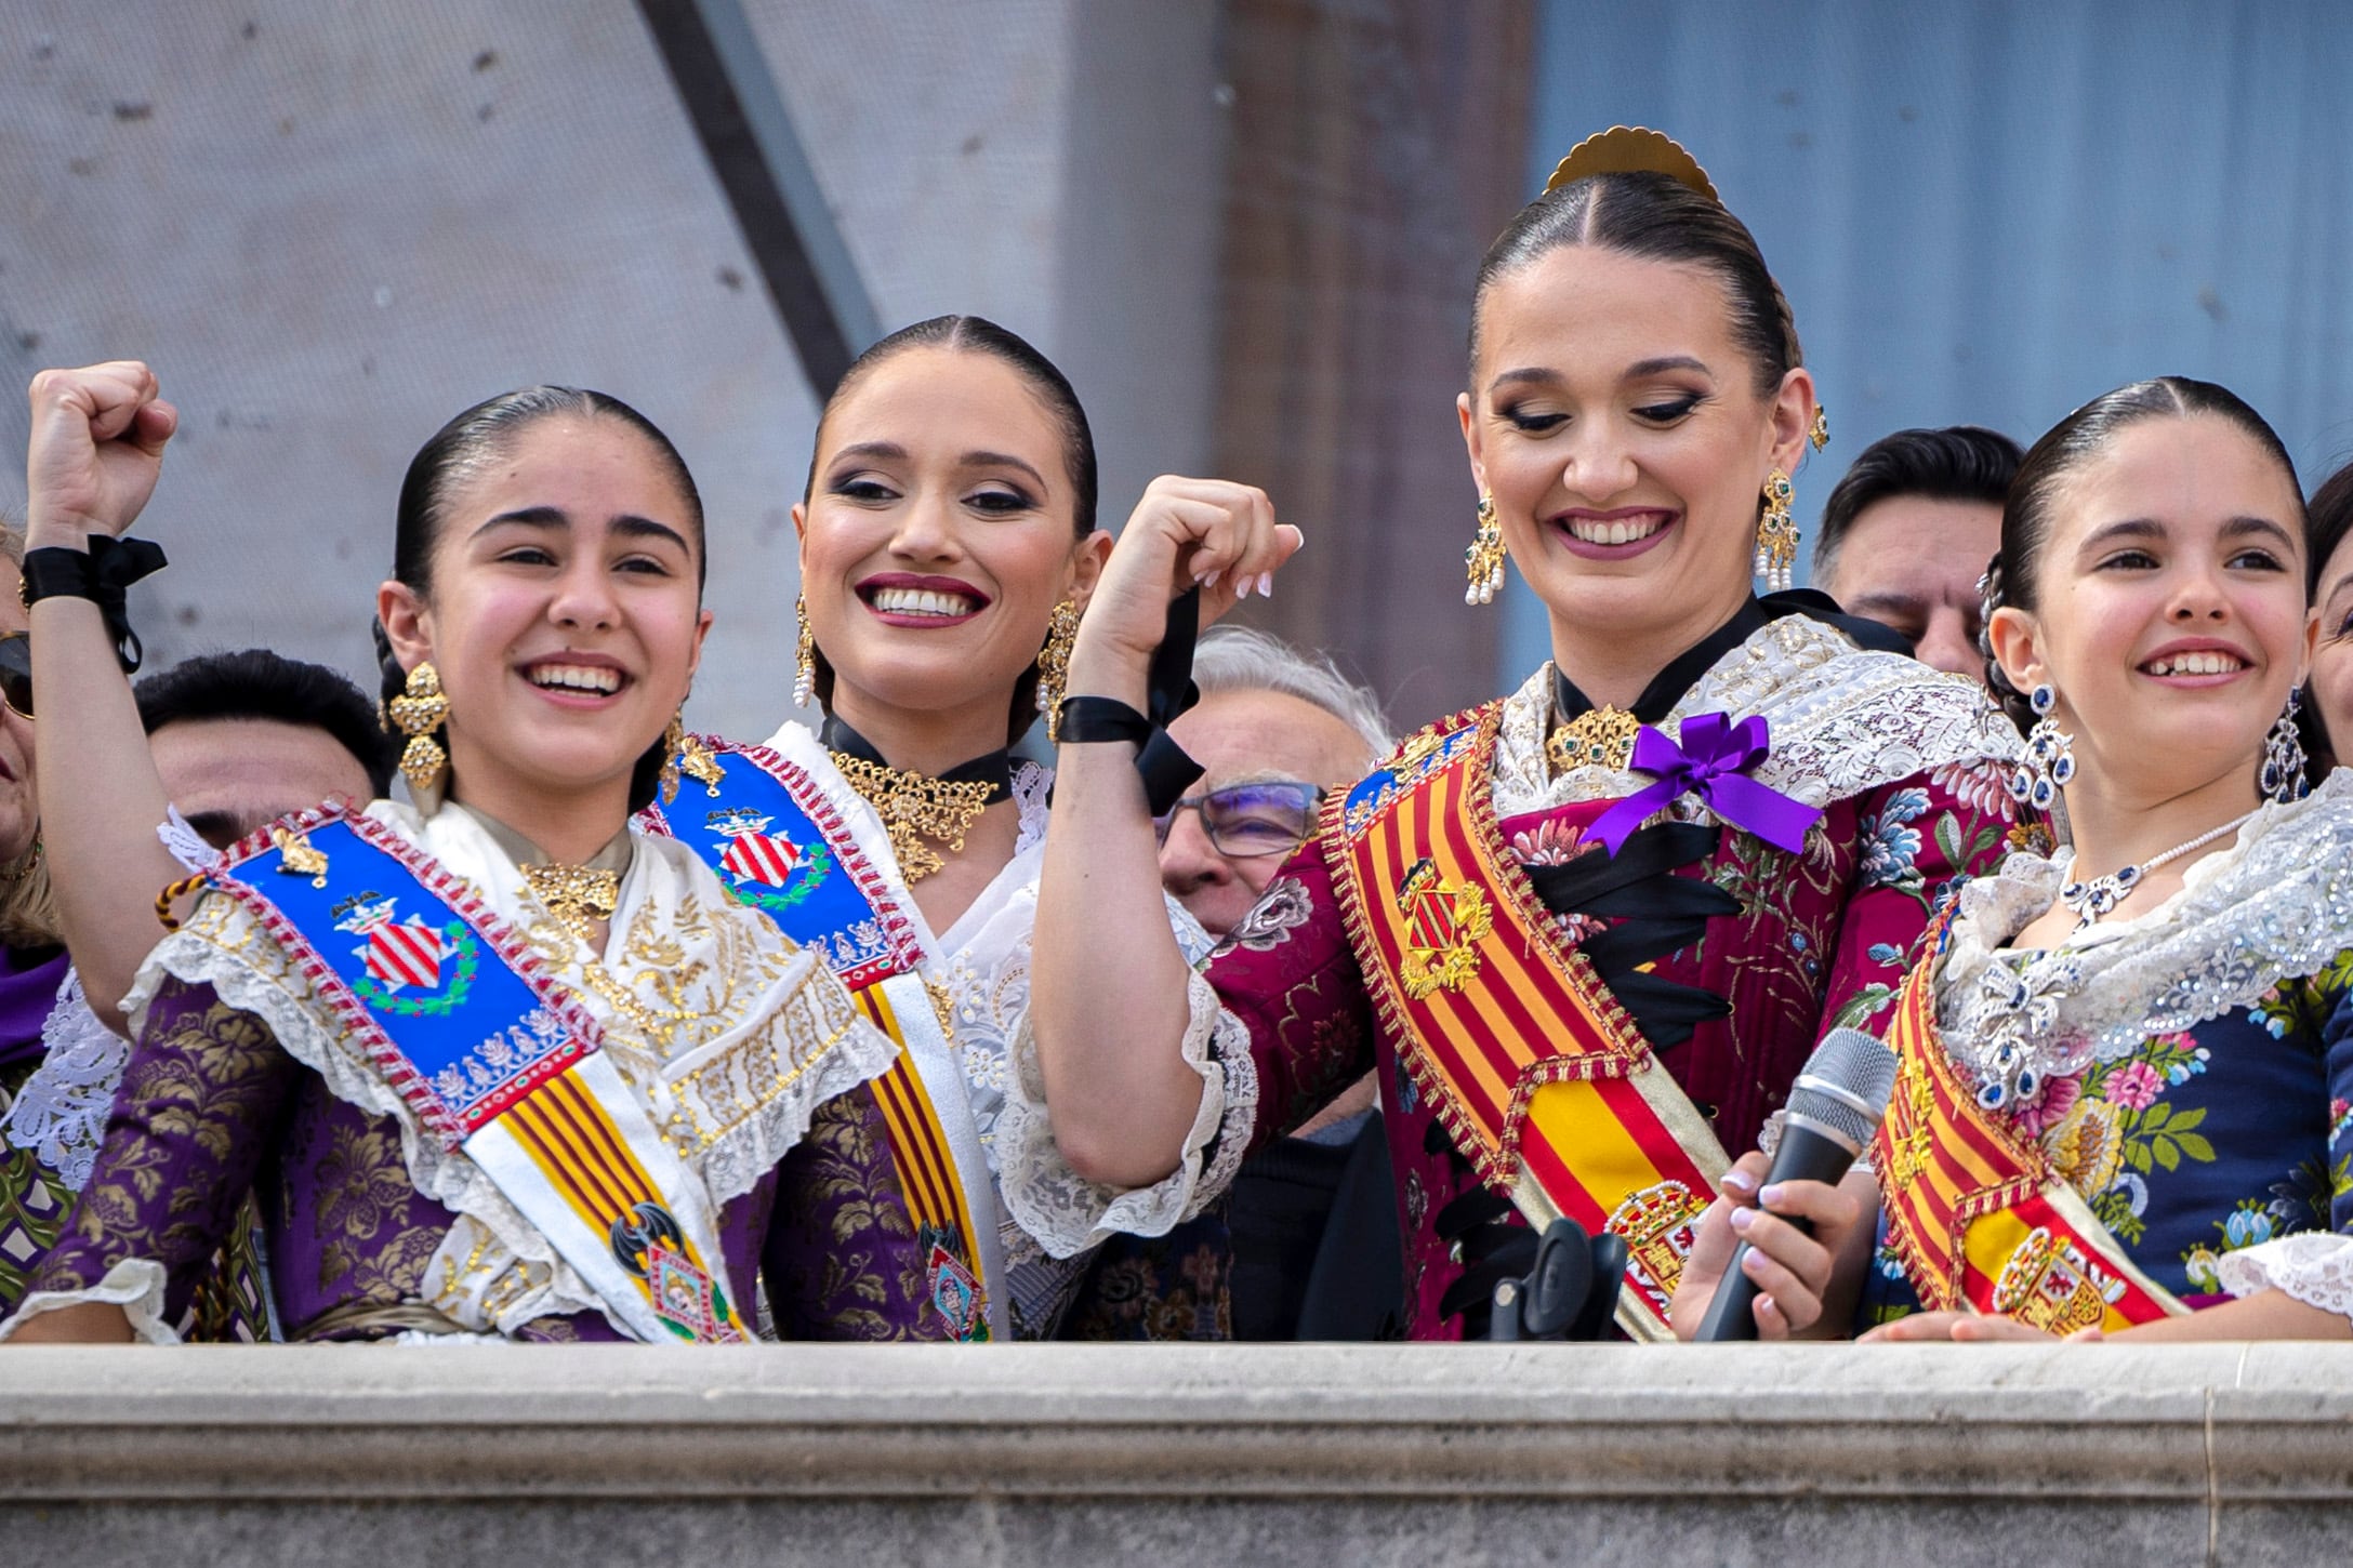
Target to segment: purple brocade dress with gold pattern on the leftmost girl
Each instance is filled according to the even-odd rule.
[[[819,1107],[776,1171],[720,1211],[732,1279],[762,1279],[779,1335],[941,1338],[880,1110],[856,1088]],[[31,1291],[87,1291],[125,1258],[167,1269],[165,1316],[193,1302],[252,1190],[287,1340],[435,1331],[424,1267],[454,1215],[421,1197],[391,1117],[339,1100],[252,1013],[165,980],[115,1095],[106,1145]],[[525,1340],[621,1340],[600,1314],[532,1321]]]

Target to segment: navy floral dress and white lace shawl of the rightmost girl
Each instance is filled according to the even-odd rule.
[[[2162,905],[2009,947],[2064,875],[2014,853],[1962,889],[1946,1051],[2174,1293],[2353,1316],[2353,773],[2257,811]]]

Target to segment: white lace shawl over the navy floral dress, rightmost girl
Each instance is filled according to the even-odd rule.
[[[1991,1072],[1988,1041],[2017,1011],[2033,1016],[2026,1060],[2049,1081],[2252,1006],[2353,947],[2353,773],[2257,811],[2158,907],[2085,926],[2047,952],[2005,947],[2057,903],[2066,875],[2066,856],[2012,853],[1960,893],[1937,1020],[1972,1081]],[[2059,1133],[2047,1128],[2045,1143]],[[2353,1319],[2353,1237],[2278,1237],[2224,1253],[2214,1272],[2233,1295],[2275,1288]]]

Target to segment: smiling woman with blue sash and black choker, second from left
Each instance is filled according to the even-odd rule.
[[[819,1119],[812,1140],[887,1143],[922,1171],[913,1260],[866,1265],[920,1269],[965,1338],[1049,1335],[1094,1244],[1167,1232],[1224,1190],[1240,1164],[1226,1124],[1249,1114],[1249,1053],[1207,987],[1188,1001],[1181,1046],[1198,1117],[1153,1182],[1080,1182],[1042,1112],[1009,1095],[1049,773],[1007,748],[1059,698],[1111,552],[1094,489],[1078,395],[1012,331],[944,315],[868,348],[826,402],[793,508],[795,701],[821,703],[824,724],[788,722],[758,748],[713,743],[715,780],[652,813],[736,898],[826,952],[904,1046],[873,1114]],[[1139,515],[1245,494],[1160,480]],[[1181,907],[1158,907],[1162,931],[1207,950]],[[824,1201],[814,1192],[807,1208]],[[854,1222],[847,1206],[833,1213]],[[795,1295],[831,1293],[847,1319],[866,1281],[852,1248],[821,1255],[821,1241],[809,1248],[821,1279]]]

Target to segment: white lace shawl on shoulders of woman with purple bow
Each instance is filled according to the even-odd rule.
[[[1692,682],[1659,726],[1675,736],[1694,712],[1762,715],[1772,755],[1753,778],[1807,806],[1939,766],[2007,764],[2019,731],[1960,675],[1901,654],[1873,654],[1812,616],[1779,616]],[[1553,726],[1553,665],[1504,698],[1494,748],[1494,813],[1520,816],[1581,799],[1614,799],[1649,783],[1626,769],[1569,769],[1553,778],[1544,738]],[[1687,809],[1697,806],[1682,802]]]

